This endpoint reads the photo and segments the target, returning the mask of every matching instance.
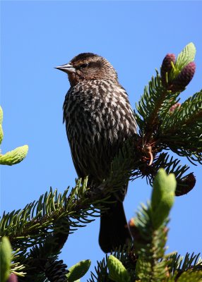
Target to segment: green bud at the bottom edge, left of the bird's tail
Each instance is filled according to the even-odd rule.
[[[90,259],[82,260],[69,268],[69,273],[66,274],[68,282],[77,281],[84,276],[90,267]]]

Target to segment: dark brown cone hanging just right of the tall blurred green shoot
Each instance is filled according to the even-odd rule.
[[[182,196],[191,191],[196,184],[196,178],[193,173],[189,173],[187,176],[184,176],[181,180],[177,181],[177,188],[175,191],[176,196]]]

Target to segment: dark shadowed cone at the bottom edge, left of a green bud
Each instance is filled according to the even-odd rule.
[[[63,260],[48,261],[45,265],[45,275],[50,282],[66,282],[66,274],[69,273],[66,267]]]

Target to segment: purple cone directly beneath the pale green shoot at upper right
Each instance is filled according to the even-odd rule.
[[[186,85],[189,85],[189,82],[192,80],[194,73],[196,71],[196,63],[188,63],[182,71],[177,75],[177,78],[174,78],[172,85],[170,85],[169,90],[172,92],[183,91]]]

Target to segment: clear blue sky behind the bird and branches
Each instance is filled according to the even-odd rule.
[[[54,66],[85,51],[105,56],[135,103],[167,53],[196,45],[196,75],[182,101],[201,90],[201,1],[1,1],[2,152],[29,145],[26,159],[1,168],[1,210],[11,212],[37,200],[49,187],[74,186],[62,105],[69,90],[66,74]],[[182,164],[188,164],[182,159]],[[171,212],[168,251],[201,252],[201,167],[191,166],[196,187],[176,198]],[[150,198],[145,179],[129,185],[124,202],[130,219]],[[104,253],[98,245],[100,220],[69,236],[61,258],[71,266]],[[90,277],[90,272],[82,279]]]

